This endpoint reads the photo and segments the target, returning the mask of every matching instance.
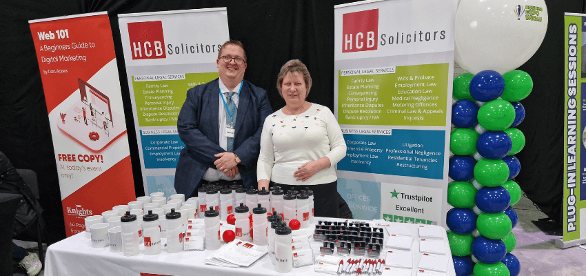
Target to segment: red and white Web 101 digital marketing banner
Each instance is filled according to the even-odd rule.
[[[134,200],[130,149],[106,12],[31,20],[65,230]]]

